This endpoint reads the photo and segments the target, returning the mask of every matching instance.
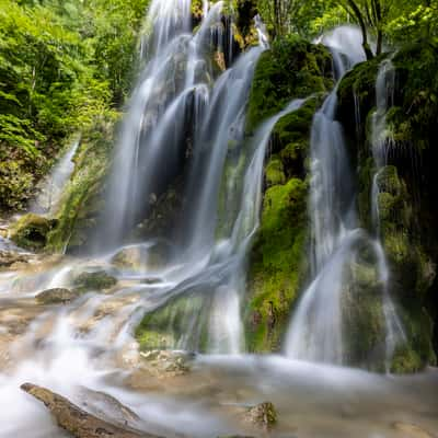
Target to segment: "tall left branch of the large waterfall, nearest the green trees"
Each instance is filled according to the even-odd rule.
[[[221,8],[216,3],[193,35],[189,0],[151,2],[141,47],[146,66],[119,135],[99,246],[123,243],[182,165],[187,125],[198,126],[209,99],[208,57],[221,32]]]

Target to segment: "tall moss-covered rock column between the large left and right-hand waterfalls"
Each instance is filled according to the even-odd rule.
[[[309,97],[274,128],[265,164],[261,227],[250,260],[244,302],[246,347],[276,351],[307,273],[308,155],[310,127],[321,97],[333,87],[328,51],[292,37],[262,55],[249,104],[247,130]]]

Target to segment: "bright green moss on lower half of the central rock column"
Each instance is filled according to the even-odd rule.
[[[298,178],[266,191],[245,315],[251,351],[277,350],[280,346],[303,272],[307,193],[307,184]]]

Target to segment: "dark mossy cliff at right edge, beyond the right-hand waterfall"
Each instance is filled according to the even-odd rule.
[[[435,362],[437,350],[437,173],[438,134],[437,47],[418,43],[357,66],[338,89],[338,119],[349,138],[357,165],[359,211],[370,228],[370,193],[376,172],[372,158],[372,116],[379,65],[391,59],[392,102],[385,114],[387,151],[376,184],[380,231],[391,269],[391,295],[406,332],[395,372],[415,371]],[[435,328],[434,328],[435,327]]]

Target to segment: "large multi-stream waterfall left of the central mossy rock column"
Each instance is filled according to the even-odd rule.
[[[255,65],[268,44],[260,18],[260,45],[237,59],[232,51],[224,54],[230,66],[215,79],[215,53],[233,46],[223,2],[204,2],[194,34],[188,33],[187,1],[160,4],[154,0],[148,14],[154,25],[141,42],[146,65],[122,128],[96,240],[112,253],[139,251],[142,266],[126,275],[150,275],[155,241],[137,242],[129,234],[182,176],[184,203],[168,234],[170,255],[153,273],[163,287],[151,311],[169,308],[170,327],[178,321],[174,347],[235,354],[243,349],[240,302],[246,253],[258,226],[266,145],[286,113],[268,120],[251,141],[244,138]],[[219,67],[227,67],[223,62]],[[178,306],[178,299],[187,302]]]

